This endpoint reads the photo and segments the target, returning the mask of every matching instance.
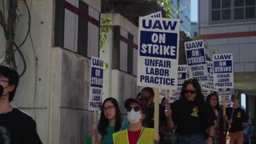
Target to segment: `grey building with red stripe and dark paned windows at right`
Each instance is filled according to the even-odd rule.
[[[199,0],[199,34],[208,44],[208,49],[216,53],[233,54],[235,90],[246,94],[246,112],[252,112],[254,119],[256,115],[255,7],[255,0]]]

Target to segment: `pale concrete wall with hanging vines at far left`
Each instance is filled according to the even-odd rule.
[[[30,37],[20,48],[26,59],[27,70],[20,79],[20,85],[16,91],[14,101],[11,105],[19,107],[28,113],[37,122],[37,131],[43,143],[48,143],[49,132],[49,95],[50,95],[50,64],[51,64],[51,35],[53,27],[53,2],[52,1],[26,1],[31,7],[31,37],[34,44],[36,58],[32,48]],[[7,8],[5,1],[5,8]],[[0,2],[2,9],[2,1]],[[19,45],[24,40],[27,33],[28,14],[23,1],[18,1],[22,14],[20,22],[16,27],[15,41]],[[7,11],[5,11],[7,12]],[[7,13],[5,13],[7,14]],[[5,38],[3,29],[0,27],[0,52],[4,51]],[[18,73],[24,68],[21,57],[16,52],[15,55]]]

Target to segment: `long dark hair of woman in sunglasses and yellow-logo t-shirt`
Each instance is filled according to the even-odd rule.
[[[193,87],[196,89],[195,101],[204,101],[201,86],[194,77],[190,77],[184,81],[182,85],[181,97],[179,97],[179,99],[187,100],[187,98],[185,97],[185,89],[189,83],[191,83]]]

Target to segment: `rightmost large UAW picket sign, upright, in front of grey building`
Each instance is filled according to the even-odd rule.
[[[213,77],[216,88],[234,88],[232,53],[213,55]]]

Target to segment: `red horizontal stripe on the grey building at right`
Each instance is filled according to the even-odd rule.
[[[252,37],[252,36],[256,36],[256,31],[200,35],[202,39],[223,39],[223,38]]]

